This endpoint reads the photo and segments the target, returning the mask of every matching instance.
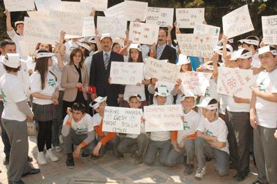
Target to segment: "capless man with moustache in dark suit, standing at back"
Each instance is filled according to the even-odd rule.
[[[156,46],[156,59],[168,59],[168,62],[175,64],[177,53],[175,48],[166,44],[168,32],[164,29],[159,30],[158,44]]]

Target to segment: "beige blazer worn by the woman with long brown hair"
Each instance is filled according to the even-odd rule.
[[[82,66],[81,68],[82,75],[82,84],[89,84],[89,75],[87,74],[86,66]],[[73,102],[76,99],[78,88],[76,84],[79,81],[79,73],[76,70],[75,66],[67,64],[64,66],[62,70],[62,78],[61,78],[61,87],[64,90],[64,98],[63,100],[67,102]],[[84,99],[87,100],[87,93],[83,93]]]

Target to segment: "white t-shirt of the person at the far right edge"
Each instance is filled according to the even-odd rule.
[[[277,93],[277,69],[271,71],[262,71],[256,79],[256,86],[265,93]],[[256,115],[258,125],[267,128],[277,127],[277,102],[269,102],[262,98],[256,98]]]

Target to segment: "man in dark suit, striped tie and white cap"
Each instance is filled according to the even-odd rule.
[[[111,62],[124,62],[124,59],[123,55],[111,50],[112,39],[109,34],[102,34],[100,42],[103,50],[94,54],[91,60],[89,85],[96,87],[96,94],[91,94],[91,99],[94,100],[96,95],[107,96],[107,105],[116,107],[118,99],[123,98],[124,86],[109,84],[109,73]]]

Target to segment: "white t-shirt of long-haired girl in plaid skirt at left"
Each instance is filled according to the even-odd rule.
[[[58,83],[56,82],[55,76],[49,71],[46,73],[46,80],[44,89],[42,89],[42,80],[38,71],[35,71],[30,75],[30,91],[31,93],[41,93],[42,95],[52,96],[55,93]],[[39,98],[33,98],[35,104],[53,104],[52,100],[44,100]]]

